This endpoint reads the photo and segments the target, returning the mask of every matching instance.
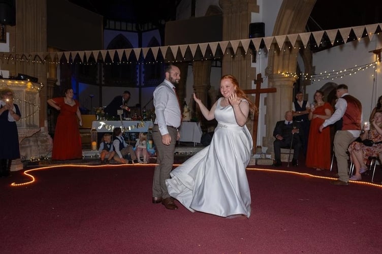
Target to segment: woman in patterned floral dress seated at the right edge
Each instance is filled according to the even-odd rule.
[[[382,110],[377,110],[374,114],[374,118],[371,120],[370,131],[364,130],[365,132],[361,135],[361,139],[371,139],[374,143],[382,141]],[[350,180],[362,180],[362,173],[365,173],[368,168],[366,166],[367,160],[370,156],[378,157],[382,152],[382,143],[373,144],[373,146],[366,146],[360,142],[353,142],[349,145],[349,153],[351,159],[356,168],[356,173],[354,176],[349,178]]]

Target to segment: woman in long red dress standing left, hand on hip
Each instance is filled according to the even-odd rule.
[[[65,90],[65,97],[48,100],[48,104],[60,111],[53,139],[53,160],[82,158],[82,144],[78,125],[82,125],[79,103],[73,99],[73,89]]]

